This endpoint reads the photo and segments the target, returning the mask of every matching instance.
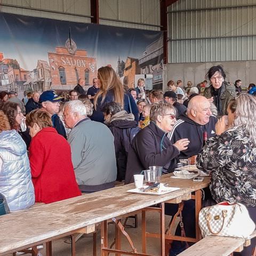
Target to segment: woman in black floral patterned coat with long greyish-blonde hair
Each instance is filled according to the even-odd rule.
[[[229,102],[227,112],[196,165],[211,174],[210,190],[217,203],[242,203],[256,222],[256,98],[243,93]],[[255,239],[239,255],[251,255],[253,246]]]

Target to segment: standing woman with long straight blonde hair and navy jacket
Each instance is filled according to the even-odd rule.
[[[138,121],[137,105],[131,93],[124,89],[120,78],[115,70],[109,66],[98,69],[99,91],[94,97],[94,110],[91,116],[93,121],[104,122],[104,115],[101,111],[107,102],[119,103],[127,113],[132,113]]]

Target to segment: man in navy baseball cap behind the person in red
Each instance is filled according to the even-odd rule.
[[[39,103],[42,104],[42,108],[45,109],[52,118],[52,126],[57,130],[57,132],[67,139],[65,127],[63,126],[60,117],[57,115],[60,109],[59,97],[53,91],[45,91],[40,95]]]

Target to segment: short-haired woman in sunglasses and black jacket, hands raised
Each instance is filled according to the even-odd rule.
[[[155,103],[150,109],[150,124],[142,129],[132,140],[128,153],[125,183],[133,182],[133,175],[140,174],[149,166],[163,166],[163,170],[172,169],[172,161],[186,150],[188,139],[176,141],[173,145],[166,137],[176,122],[175,109],[167,103]]]

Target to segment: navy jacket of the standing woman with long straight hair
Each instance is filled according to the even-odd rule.
[[[101,109],[105,105],[105,103],[115,101],[114,94],[113,94],[113,92],[108,91],[107,95],[105,97],[105,100],[102,103],[101,103],[101,99],[102,99],[101,97],[98,98],[97,110],[95,110],[95,109],[93,110],[91,119],[92,119],[92,121],[97,121],[97,122],[103,123],[104,115],[103,115]],[[129,106],[129,99],[130,99],[130,103],[131,103],[131,109]],[[132,94],[129,92],[124,94],[124,110],[127,113],[132,113],[134,115],[135,121],[139,121],[139,111],[137,108],[137,104],[134,101],[134,99],[132,98]]]

